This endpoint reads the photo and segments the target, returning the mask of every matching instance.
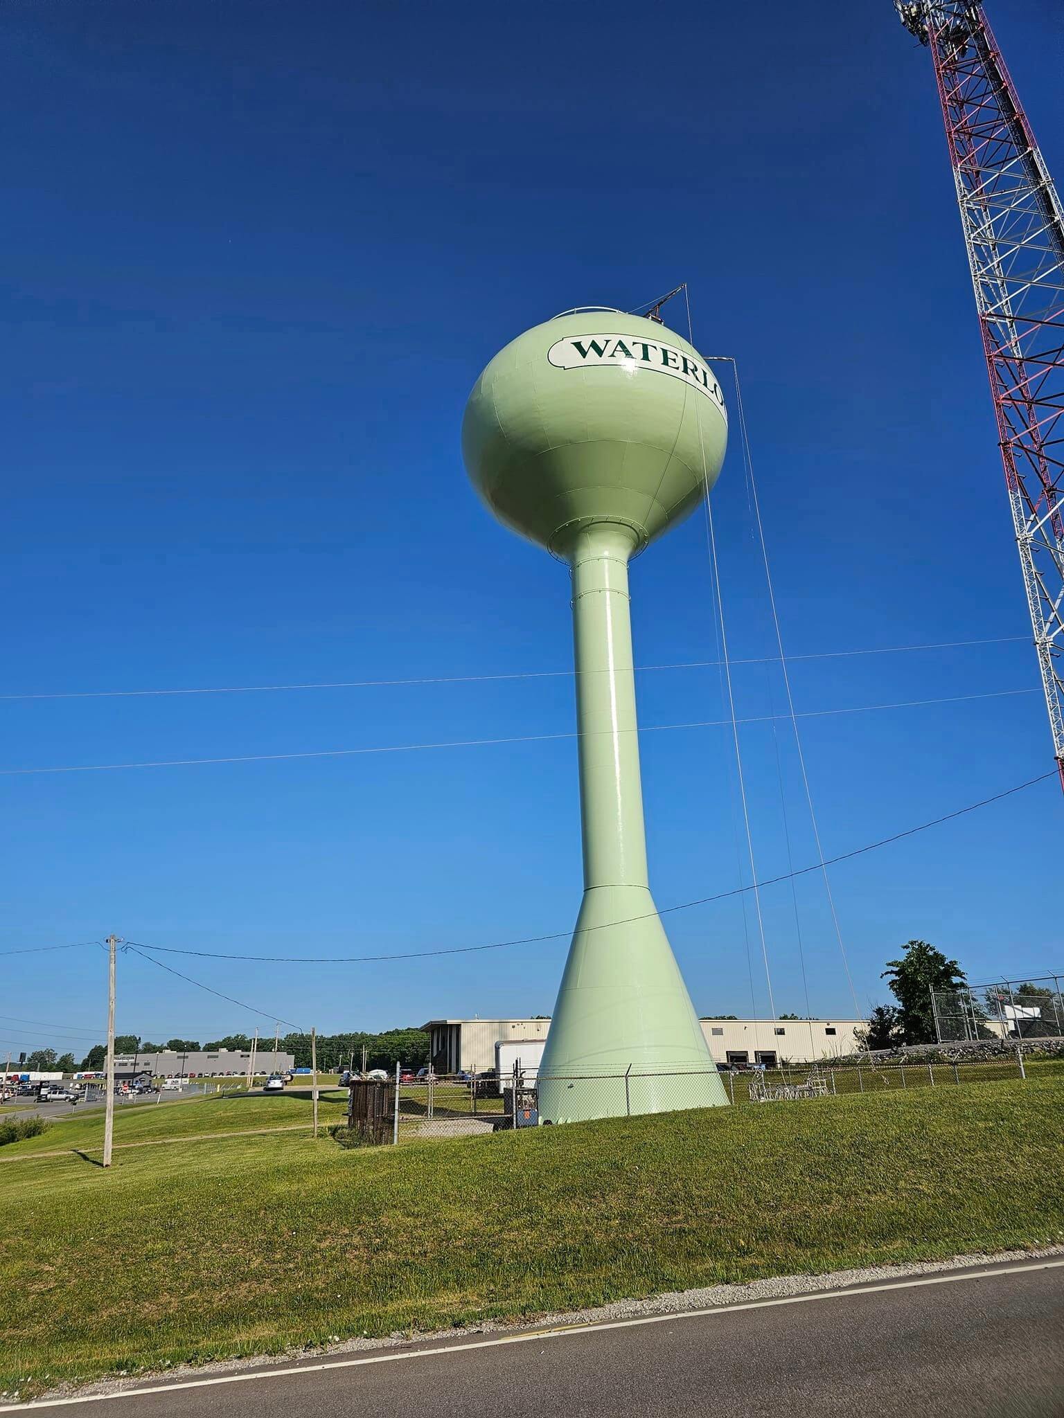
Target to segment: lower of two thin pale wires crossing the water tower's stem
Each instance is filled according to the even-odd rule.
[[[874,713],[887,709],[919,709],[926,705],[965,703],[972,699],[1007,699],[1014,695],[1036,695],[1037,689],[993,689],[977,695],[948,695],[942,699],[899,699],[885,705],[854,705],[848,709],[806,709],[799,719],[823,719],[831,715],[846,713]],[[773,720],[790,722],[790,715],[752,715],[736,719],[736,723],[770,723]],[[661,733],[672,729],[719,729],[731,726],[731,719],[695,719],[688,723],[650,723],[640,725],[637,730],[619,730],[621,733]],[[204,767],[216,763],[279,763],[291,759],[350,759],[373,753],[427,753],[433,749],[485,749],[505,743],[548,743],[555,739],[579,739],[576,730],[562,733],[522,733],[498,739],[447,739],[437,743],[387,743],[370,744],[363,749],[302,749],[292,753],[237,753],[211,759],[145,759],[135,763],[74,763],[58,767],[33,769],[0,769],[0,777],[27,777],[40,773],[118,773],[128,769],[189,769]],[[57,947],[61,949],[61,947]]]

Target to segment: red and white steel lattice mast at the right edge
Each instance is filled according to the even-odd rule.
[[[1064,216],[980,4],[895,0],[931,50],[1064,787]]]

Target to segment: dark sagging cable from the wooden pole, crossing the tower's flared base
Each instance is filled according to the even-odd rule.
[[[840,852],[838,856],[829,856],[826,861],[813,862],[809,866],[800,866],[793,872],[783,872],[780,876],[769,876],[766,881],[759,881],[748,886],[735,886],[731,891],[716,892],[714,896],[699,896],[695,900],[684,900],[675,906],[663,906],[657,912],[645,912],[641,916],[626,916],[624,920],[607,920],[600,926],[586,926],[586,930],[609,930],[614,926],[628,926],[637,920],[647,920],[653,916],[667,916],[678,910],[691,910],[694,906],[708,906],[712,902],[726,900],[729,896],[741,896],[743,892],[763,891],[766,886],[776,886],[779,882],[792,881],[796,876],[807,876],[810,872],[823,871],[824,866],[834,866],[838,862],[847,862],[854,856],[863,856],[867,852],[874,852],[880,847],[890,847],[892,842],[901,842],[907,837],[915,837],[918,832],[926,832],[932,827],[941,827],[943,822],[952,822],[958,817],[965,817],[968,813],[975,813],[982,807],[989,807],[992,803],[1000,803],[1003,798],[1013,797],[1016,793],[1023,793],[1026,788],[1034,787],[1037,783],[1046,783],[1048,778],[1055,778],[1057,773],[1043,773],[1037,778],[1029,778],[1026,783],[1017,783],[1016,787],[1004,788],[1002,793],[994,793],[990,797],[980,798],[977,803],[969,803],[966,807],[959,807],[952,813],[945,813],[942,817],[935,817],[929,822],[921,822],[916,827],[908,827],[902,832],[892,832],[890,837],[882,837],[877,842],[867,842],[864,847],[855,847],[848,852]],[[443,950],[410,950],[399,954],[387,956],[243,956],[243,954],[228,954],[218,950],[183,950],[174,946],[149,946],[143,942],[132,942],[132,946],[140,950],[160,951],[170,956],[196,956],[204,960],[254,960],[260,964],[301,964],[301,966],[316,966],[316,964],[365,964],[369,961],[379,960],[426,960],[434,956],[465,956],[475,954],[482,950],[505,950],[509,946],[533,946],[541,944],[546,940],[563,940],[572,936],[572,926],[566,930],[552,930],[542,936],[521,936],[515,940],[494,940],[487,946],[453,946]],[[155,961],[162,964],[160,960]],[[163,967],[167,968],[167,967]],[[176,974],[177,971],[172,971]],[[184,978],[184,977],[182,977]],[[192,981],[196,984],[197,981]],[[207,986],[201,986],[207,988]],[[216,993],[216,991],[211,991]],[[226,995],[223,995],[226,998]],[[238,1001],[234,1001],[238,1003]],[[248,1005],[244,1005],[248,1008]],[[257,1011],[264,1012],[264,1011]],[[270,1018],[277,1018],[277,1015],[270,1015]],[[281,1021],[287,1024],[287,1020]]]

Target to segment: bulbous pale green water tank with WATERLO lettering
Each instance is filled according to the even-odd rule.
[[[562,557],[590,522],[627,525],[641,550],[712,488],[726,442],[702,356],[664,325],[604,308],[511,340],[462,421],[465,467],[491,510]]]

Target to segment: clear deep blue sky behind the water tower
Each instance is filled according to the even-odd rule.
[[[526,326],[680,281],[695,343],[739,360],[787,651],[1029,634],[929,60],[887,0],[816,20],[783,0],[9,0],[4,18],[4,692],[562,674],[7,699],[1,767],[570,733],[565,570],[478,505],[461,413]],[[996,0],[992,20],[1060,173],[1058,20],[1048,0]],[[732,654],[769,655],[738,438],[714,496]],[[633,596],[640,664],[715,658],[699,519],[636,563]],[[829,855],[1051,767],[1023,640],[792,672]],[[782,708],[777,669],[736,666],[735,689],[741,716]],[[1023,692],[819,713],[999,691]],[[638,693],[648,730],[724,713],[714,668],[647,671]],[[816,861],[786,722],[776,737],[782,773],[772,726],[742,730],[760,876],[787,869],[780,783],[793,862]],[[647,732],[643,754],[660,906],[732,889],[729,730]],[[579,905],[570,737],[0,791],[10,950],[113,929],[420,951],[565,932]],[[1063,820],[1047,783],[838,866],[861,1005],[912,936],[976,980],[1064,967]],[[813,1012],[850,1014],[816,876],[797,906]],[[776,1004],[804,1012],[790,888],[763,910]],[[742,906],[667,919],[699,1011],[748,1014]],[[549,1012],[565,950],[166,959],[328,1032]],[[7,1012],[92,1034],[104,963],[6,959]],[[16,1045],[67,1042],[0,1022]],[[257,1021],[123,956],[118,1022]]]

